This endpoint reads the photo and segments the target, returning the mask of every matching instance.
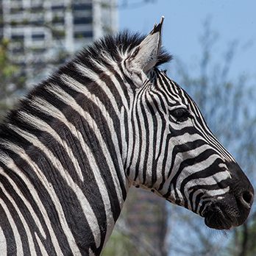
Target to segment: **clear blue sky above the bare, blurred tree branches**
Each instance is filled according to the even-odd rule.
[[[213,49],[218,60],[230,43],[238,40],[230,75],[248,74],[256,79],[255,11],[254,0],[155,0],[141,7],[129,7],[128,4],[119,8],[119,29],[147,33],[164,15],[163,46],[174,54],[174,62],[178,57],[193,64],[201,53],[199,35],[202,35],[203,23],[210,18],[212,29],[218,32],[218,43]]]

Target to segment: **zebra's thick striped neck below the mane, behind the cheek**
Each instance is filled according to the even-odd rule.
[[[14,221],[23,231],[28,226],[32,232],[24,235],[49,255],[52,248],[57,255],[98,255],[127,196],[119,113],[90,92],[85,96],[50,83],[45,89],[51,97],[35,91],[29,107],[21,106],[2,131],[8,142],[0,171],[7,188],[18,191],[9,192],[17,209],[2,222]],[[18,209],[26,216],[22,221]]]

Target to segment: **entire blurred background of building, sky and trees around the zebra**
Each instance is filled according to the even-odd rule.
[[[169,77],[256,182],[256,1],[0,0],[0,119],[75,52],[123,29],[148,33],[166,17]],[[129,192],[104,256],[256,255],[256,204],[221,232],[140,189]]]

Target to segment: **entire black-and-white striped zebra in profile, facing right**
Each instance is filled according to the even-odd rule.
[[[100,255],[132,185],[229,230],[254,190],[149,35],[97,40],[0,127],[1,255]]]

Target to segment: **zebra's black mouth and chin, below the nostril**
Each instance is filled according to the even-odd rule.
[[[207,227],[216,230],[230,230],[232,227],[238,226],[235,219],[230,214],[221,210],[217,205],[210,205],[204,213],[205,224]]]

